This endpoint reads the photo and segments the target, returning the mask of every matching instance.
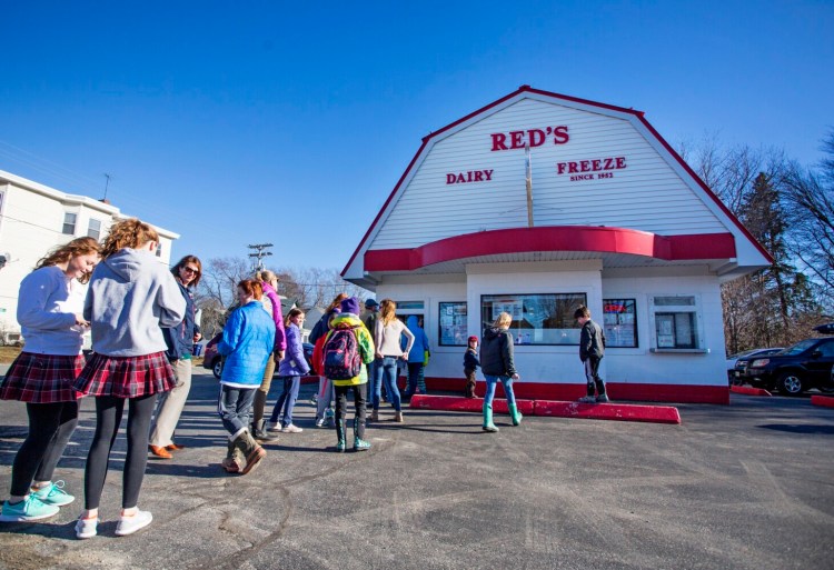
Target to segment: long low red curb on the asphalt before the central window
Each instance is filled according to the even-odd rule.
[[[832,398],[834,400],[834,398]],[[518,410],[526,416],[578,418],[586,420],[644,421],[651,423],[681,423],[677,408],[671,406],[643,406],[631,403],[579,403],[554,400],[516,400]],[[411,408],[480,412],[484,400],[454,396],[411,397]],[[506,400],[494,400],[494,411],[507,412]]]

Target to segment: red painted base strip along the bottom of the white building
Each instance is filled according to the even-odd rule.
[[[606,382],[608,397],[615,401],[719,403],[729,404],[727,386],[706,384],[648,384]],[[464,393],[466,380],[463,378],[426,378],[426,388],[438,391]],[[475,393],[484,397],[486,384],[478,382]],[[585,396],[585,384],[563,384],[549,382],[513,382],[517,399],[575,401]],[[504,397],[504,388],[498,384],[496,397]],[[522,412],[524,413],[524,412]]]

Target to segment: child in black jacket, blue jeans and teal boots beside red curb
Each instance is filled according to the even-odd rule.
[[[480,347],[480,369],[486,378],[486,393],[484,394],[484,431],[496,432],[498,428],[493,423],[493,400],[495,384],[504,384],[507,397],[507,408],[513,426],[522,423],[522,412],[516,406],[513,381],[518,380],[516,364],[513,358],[513,334],[507,330],[513,317],[507,312],[498,316],[492,327],[484,331],[484,343]]]

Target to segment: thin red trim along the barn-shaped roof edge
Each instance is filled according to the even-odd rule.
[[[522,86],[516,91],[509,93],[508,96],[502,97],[497,101],[493,101],[492,103],[489,103],[489,104],[487,104],[485,107],[481,107],[477,111],[474,111],[474,112],[467,114],[466,117],[464,117],[461,119],[458,119],[457,121],[451,122],[451,123],[447,124],[446,127],[443,127],[441,129],[439,129],[439,130],[433,132],[431,134],[428,134],[427,137],[423,138],[423,143],[420,144],[420,148],[417,150],[417,153],[411,159],[411,162],[408,163],[408,168],[406,168],[406,170],[403,172],[403,176],[397,181],[397,184],[394,187],[394,190],[391,190],[391,193],[388,196],[388,199],[383,204],[383,208],[379,210],[379,212],[377,213],[376,218],[374,218],[374,222],[370,224],[370,227],[368,228],[368,230],[365,232],[365,236],[363,237],[361,241],[359,242],[359,246],[357,246],[357,248],[354,251],[353,256],[350,256],[350,259],[348,260],[347,264],[341,270],[341,276],[342,277],[345,276],[345,273],[347,273],[347,270],[348,270],[348,268],[350,268],[351,263],[356,259],[356,256],[359,253],[359,251],[361,251],[361,249],[365,246],[365,242],[368,240],[368,237],[370,236],[371,231],[374,230],[374,228],[376,228],[376,224],[379,222],[379,219],[381,218],[383,212],[386,211],[386,209],[388,208],[388,204],[391,202],[391,200],[394,199],[394,197],[397,194],[397,191],[399,190],[399,187],[403,184],[403,181],[406,179],[406,177],[408,176],[408,173],[411,171],[411,168],[414,168],[415,163],[417,162],[417,158],[425,150],[426,146],[428,144],[428,141],[431,140],[433,138],[437,137],[438,134],[440,134],[443,132],[446,132],[449,129],[453,129],[453,128],[457,127],[458,124],[464,123],[464,122],[468,121],[469,119],[471,119],[474,117],[477,117],[478,114],[481,114],[483,112],[485,112],[485,111],[487,111],[487,110],[489,110],[489,109],[492,109],[492,108],[494,108],[496,106],[499,106],[499,104],[502,104],[502,103],[504,103],[504,102],[513,99],[514,97],[517,97],[518,94],[520,94],[523,92],[536,93],[536,94],[540,94],[540,96],[544,96],[544,97],[552,97],[552,98],[555,98],[555,99],[562,99],[562,100],[572,101],[572,102],[575,102],[575,103],[587,104],[587,106],[590,106],[590,107],[598,107],[600,109],[607,109],[607,110],[610,110],[610,111],[616,111],[616,112],[622,112],[622,113],[628,113],[628,114],[633,114],[633,116],[637,117],[637,119],[639,119],[639,121],[648,129],[648,131],[657,139],[657,141],[661,144],[663,144],[663,147],[666,149],[666,151],[669,152],[669,154],[675,160],[677,160],[677,162],[684,168],[684,170],[686,170],[686,172],[698,183],[698,186],[701,186],[701,188],[706,192],[706,194],[713,201],[715,201],[715,203],[718,206],[718,208],[721,208],[722,211],[744,233],[744,236],[747,237],[747,239],[751,240],[751,242],[758,249],[758,251],[765,257],[765,259],[767,259],[771,263],[773,262],[773,257],[767,252],[767,250],[765,250],[762,247],[762,244],[758,243],[758,241],[749,233],[749,231],[747,231],[747,229],[726,208],[726,206],[724,206],[724,203],[721,200],[718,200],[718,197],[716,197],[713,193],[713,191],[709,190],[709,188],[704,183],[704,181],[701,180],[701,178],[692,170],[692,168],[689,168],[689,166],[684,161],[684,159],[682,159],[678,156],[678,153],[675,152],[675,150],[669,146],[668,142],[666,142],[666,140],[663,137],[661,137],[661,134],[655,130],[655,128],[652,127],[652,124],[645,119],[643,111],[635,111],[634,109],[626,109],[624,107],[616,107],[616,106],[613,106],[613,104],[606,104],[606,103],[600,103],[600,102],[597,102],[597,101],[590,101],[588,99],[579,99],[577,97],[564,96],[564,94],[560,94],[560,93],[554,93],[552,91],[544,91],[542,89],[534,89],[530,86]],[[395,251],[395,250],[390,250],[390,251]],[[366,267],[365,270],[366,271],[373,271],[368,267]]]

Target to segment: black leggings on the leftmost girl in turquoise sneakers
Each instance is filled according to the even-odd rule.
[[[58,460],[78,426],[78,402],[27,403],[29,436],[11,468],[12,497],[23,497],[32,481],[51,481]]]

